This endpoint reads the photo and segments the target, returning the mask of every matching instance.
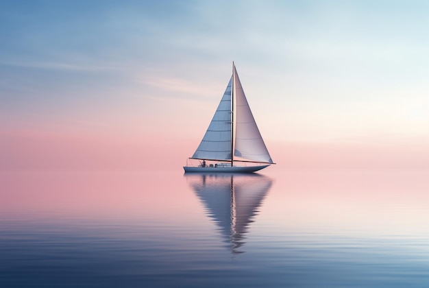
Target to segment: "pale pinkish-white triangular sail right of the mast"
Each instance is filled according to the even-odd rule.
[[[262,163],[273,163],[256,125],[240,79],[234,67],[234,95],[236,101],[234,156]]]

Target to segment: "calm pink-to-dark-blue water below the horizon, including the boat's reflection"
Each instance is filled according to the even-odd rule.
[[[429,171],[0,174],[0,287],[429,287]]]

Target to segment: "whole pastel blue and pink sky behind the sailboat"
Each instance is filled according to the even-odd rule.
[[[232,61],[278,166],[427,169],[428,12],[427,1],[0,0],[0,169],[180,167]]]

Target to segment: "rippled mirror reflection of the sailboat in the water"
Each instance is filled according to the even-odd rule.
[[[243,253],[245,234],[272,180],[260,174],[185,174],[188,184],[217,224],[232,254]]]

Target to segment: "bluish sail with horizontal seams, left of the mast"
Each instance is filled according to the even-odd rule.
[[[206,134],[204,134],[204,138],[192,158],[208,160],[231,159],[231,89],[232,77]]]

